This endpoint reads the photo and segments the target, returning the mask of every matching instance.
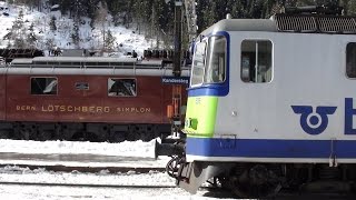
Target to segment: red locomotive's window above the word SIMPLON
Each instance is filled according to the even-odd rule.
[[[136,79],[108,79],[109,97],[136,97],[137,84]]]

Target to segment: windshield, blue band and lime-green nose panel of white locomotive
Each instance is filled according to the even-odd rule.
[[[212,138],[218,99],[228,93],[227,32],[210,34],[197,42],[184,132],[191,138]]]

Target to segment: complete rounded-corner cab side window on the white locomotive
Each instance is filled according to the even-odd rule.
[[[271,50],[269,40],[243,41],[240,77],[244,82],[271,81]]]

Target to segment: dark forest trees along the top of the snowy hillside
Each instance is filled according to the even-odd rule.
[[[41,0],[7,0],[37,7]],[[99,4],[105,6],[113,21],[130,26],[145,23],[169,32],[174,27],[176,0],[48,0],[59,4],[62,13],[73,18],[96,18]],[[184,0],[182,0],[184,1]],[[281,7],[327,6],[344,7],[346,14],[356,13],[355,0],[196,0],[198,32],[231,13],[233,18],[269,18]]]

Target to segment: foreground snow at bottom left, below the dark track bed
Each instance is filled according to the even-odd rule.
[[[0,181],[38,182],[38,183],[76,183],[76,184],[115,184],[115,186],[175,186],[175,180],[162,172],[138,174],[135,172],[109,174],[79,172],[52,172],[29,170],[26,168],[7,167],[0,169]],[[62,199],[118,199],[118,200],[208,200],[204,192],[189,194],[180,188],[87,188],[60,186],[11,186],[0,184],[0,199],[7,200],[62,200]]]

